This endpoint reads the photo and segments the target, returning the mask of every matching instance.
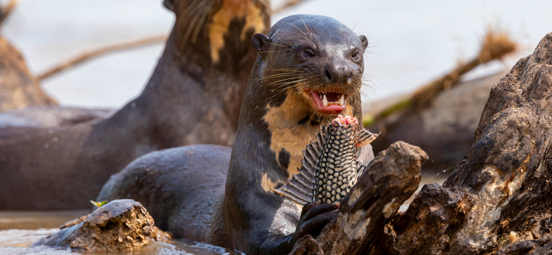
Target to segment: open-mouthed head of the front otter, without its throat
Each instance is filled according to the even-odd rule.
[[[314,15],[286,17],[268,36],[255,34],[252,43],[264,61],[259,72],[266,85],[274,94],[297,97],[296,103],[308,105],[318,119],[334,118],[359,100],[368,40],[339,21]]]

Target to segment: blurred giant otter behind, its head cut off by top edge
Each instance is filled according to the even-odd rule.
[[[0,115],[10,122],[0,125],[0,210],[88,207],[109,176],[138,156],[195,143],[232,145],[257,56],[250,38],[270,26],[267,2],[164,3],[176,21],[159,63],[144,92],[110,118],[92,114],[52,127],[43,123],[61,121],[29,120],[40,119],[41,110],[18,114],[26,121]]]

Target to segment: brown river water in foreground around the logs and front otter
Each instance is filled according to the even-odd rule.
[[[422,174],[420,191],[427,183],[442,184],[449,172],[438,174]],[[405,211],[415,194],[404,202],[400,211]],[[89,210],[59,211],[59,212],[0,212],[0,255],[8,254],[86,254],[86,252],[72,252],[70,249],[56,249],[44,246],[32,246],[40,238],[53,234],[63,223],[88,214]],[[170,243],[150,243],[132,252],[123,253],[94,253],[94,254],[190,254],[190,255],[234,255],[242,254],[231,249],[216,247],[206,243],[197,243],[187,239],[175,239]]]

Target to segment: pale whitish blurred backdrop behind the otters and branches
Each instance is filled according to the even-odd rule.
[[[6,3],[3,1],[2,3]],[[284,3],[272,1],[274,7]],[[509,32],[521,47],[504,63],[480,66],[464,79],[511,68],[551,32],[552,1],[308,0],[273,15],[322,14],[368,37],[365,73],[375,94],[364,101],[413,91],[477,54],[489,26]],[[33,74],[82,52],[168,34],[174,15],[157,0],[21,0],[1,34],[19,48]],[[108,54],[43,80],[61,105],[119,108],[141,92],[163,43]]]

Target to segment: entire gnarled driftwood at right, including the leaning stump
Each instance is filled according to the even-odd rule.
[[[378,154],[371,172],[359,179],[337,219],[316,241],[324,254],[551,254],[551,130],[552,33],[493,86],[471,152],[443,186],[425,185],[404,213],[382,212],[380,205],[395,197],[401,201],[403,196],[397,194],[406,195],[412,187],[392,179],[368,183],[373,176],[405,169],[377,165]],[[396,178],[406,178],[406,173]],[[358,186],[362,192],[355,195]],[[362,205],[364,198],[368,200]],[[359,208],[368,209],[365,214],[372,214],[372,220],[366,223],[364,213],[352,217]],[[351,233],[357,234],[356,241],[351,241]]]

